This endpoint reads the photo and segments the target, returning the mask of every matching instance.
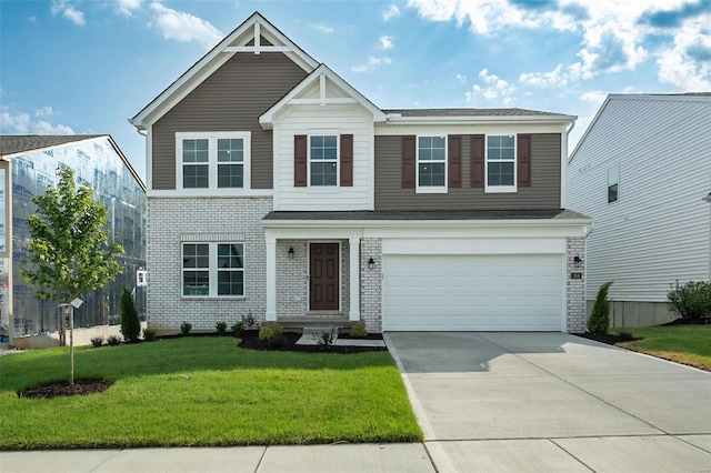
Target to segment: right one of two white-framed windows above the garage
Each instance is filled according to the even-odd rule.
[[[515,192],[515,134],[487,135],[487,192]]]

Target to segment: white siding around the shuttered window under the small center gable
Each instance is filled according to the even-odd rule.
[[[373,209],[373,123],[360,105],[298,105],[274,124],[274,210]],[[353,135],[353,185],[296,188],[294,135]],[[338,144],[340,147],[340,143]],[[311,161],[313,162],[313,161]],[[340,168],[340,165],[338,167]],[[310,170],[309,170],[310,172]]]

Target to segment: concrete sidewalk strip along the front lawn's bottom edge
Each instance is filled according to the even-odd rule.
[[[2,473],[431,473],[418,443],[0,452]]]

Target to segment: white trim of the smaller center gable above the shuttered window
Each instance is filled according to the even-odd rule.
[[[321,79],[323,78],[323,80]],[[350,98],[328,98],[326,97],[326,80],[333,82],[339,89],[346,92]],[[298,99],[298,97],[303,93],[311,84],[316,81],[320,82],[320,97],[317,99]],[[368,110],[373,115],[373,121],[385,121],[385,114],[375,107],[370,100],[365,98],[362,93],[356,90],[350,83],[346,82],[339,74],[333,72],[328,66],[321,63],[317,69],[314,69],[309,76],[307,76],[301,82],[299,82],[293,89],[291,89],[284,97],[281,98],[277,103],[270,107],[259,118],[259,123],[263,129],[270,130],[273,125],[274,115],[277,115],[281,110],[283,110],[290,103],[312,103],[312,104],[322,104],[326,105],[328,103],[358,103]]]

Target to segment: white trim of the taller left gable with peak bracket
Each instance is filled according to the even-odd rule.
[[[262,39],[266,39],[268,44],[262,46]],[[256,11],[138,112],[136,117],[129,119],[129,122],[139,130],[147,129],[200,85],[233,54],[248,51],[256,54],[284,53],[307,72],[313,71],[319,66],[313,58]]]

